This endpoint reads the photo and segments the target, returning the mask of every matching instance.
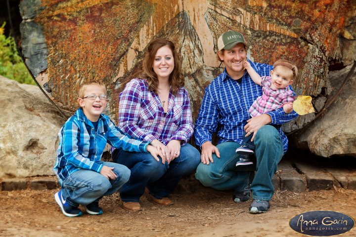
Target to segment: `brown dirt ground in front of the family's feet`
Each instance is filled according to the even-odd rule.
[[[231,192],[171,195],[174,205],[156,206],[144,194],[142,211],[122,209],[119,194],[100,201],[103,215],[70,218],[54,200],[58,190],[0,192],[1,237],[290,237],[304,236],[289,227],[295,215],[332,210],[356,218],[356,191],[293,193],[277,191],[267,213],[250,214],[250,201],[235,203]],[[356,236],[356,230],[343,236]]]

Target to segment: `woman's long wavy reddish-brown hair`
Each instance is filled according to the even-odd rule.
[[[153,71],[152,65],[155,59],[157,50],[163,46],[168,46],[173,53],[175,67],[170,75],[169,82],[171,84],[171,93],[176,95],[179,88],[184,86],[184,78],[181,72],[181,63],[179,56],[172,41],[166,39],[152,40],[148,45],[146,55],[142,62],[142,70],[135,73],[135,78],[146,79],[148,82],[148,89],[157,94],[158,78],[157,74]]]

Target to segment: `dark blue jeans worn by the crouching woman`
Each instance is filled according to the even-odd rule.
[[[113,161],[131,170],[129,181],[120,191],[122,201],[138,202],[145,187],[153,197],[162,199],[173,193],[184,175],[193,173],[200,162],[200,153],[190,144],[180,148],[180,155],[168,164],[157,161],[150,153],[128,152],[115,149]]]

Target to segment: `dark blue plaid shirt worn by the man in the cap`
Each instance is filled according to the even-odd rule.
[[[248,61],[261,77],[269,76],[270,71],[273,70],[272,65]],[[292,89],[292,87],[290,88]],[[241,144],[243,128],[247,120],[251,118],[248,110],[257,97],[261,95],[262,87],[256,84],[247,72],[245,72],[241,84],[239,84],[226,73],[225,69],[205,88],[199,115],[195,121],[194,136],[196,144],[201,147],[204,142],[211,142],[212,134],[217,128],[219,144],[227,141]],[[294,91],[293,95],[295,96]],[[272,118],[271,124],[282,124],[298,117],[295,111],[285,114],[283,108],[266,114]],[[282,138],[285,154],[288,147],[288,139],[281,128],[278,131]]]

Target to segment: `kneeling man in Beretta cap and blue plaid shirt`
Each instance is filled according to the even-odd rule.
[[[287,151],[288,139],[280,126],[296,118],[294,111],[285,114],[283,108],[251,118],[248,110],[255,99],[262,95],[262,87],[252,81],[244,68],[247,60],[260,76],[269,76],[273,66],[253,63],[246,58],[248,45],[239,32],[228,31],[218,40],[219,61],[225,70],[205,89],[205,95],[195,122],[196,144],[201,148],[201,163],[195,177],[204,186],[218,190],[235,190],[234,201],[250,199],[251,213],[263,213],[269,208],[274,189],[272,176],[277,163]],[[219,144],[212,144],[212,133],[218,128]],[[251,165],[236,167],[239,155],[235,150],[242,142],[243,132],[253,133],[255,143],[256,175]],[[247,136],[246,135],[246,136]],[[249,166],[249,167],[248,167]],[[251,177],[252,176],[252,177]],[[252,181],[252,183],[251,183]]]

